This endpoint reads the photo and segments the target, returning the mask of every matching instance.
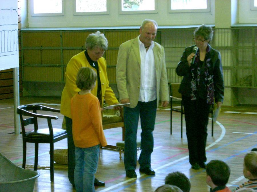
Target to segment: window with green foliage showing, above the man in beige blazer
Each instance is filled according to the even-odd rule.
[[[157,13],[157,0],[120,0],[120,13]]]

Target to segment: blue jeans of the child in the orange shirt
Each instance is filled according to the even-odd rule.
[[[94,180],[100,145],[89,148],[75,147],[74,183],[77,192],[95,191]]]

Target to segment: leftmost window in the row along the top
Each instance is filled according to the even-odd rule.
[[[32,16],[64,15],[63,0],[32,0]]]

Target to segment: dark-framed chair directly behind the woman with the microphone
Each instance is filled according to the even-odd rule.
[[[178,89],[180,87],[180,83],[170,83],[170,134],[172,135],[172,111],[176,111],[179,112],[180,115],[180,137],[183,137],[183,114],[184,113],[184,107],[183,107],[183,103],[182,103],[182,95],[181,93],[178,92]],[[177,100],[180,102],[179,106],[172,106],[172,101],[173,99]],[[210,109],[210,114],[212,117],[212,136],[213,136],[213,106]]]

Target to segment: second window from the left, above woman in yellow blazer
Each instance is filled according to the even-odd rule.
[[[109,14],[109,0],[73,0],[73,14]]]

